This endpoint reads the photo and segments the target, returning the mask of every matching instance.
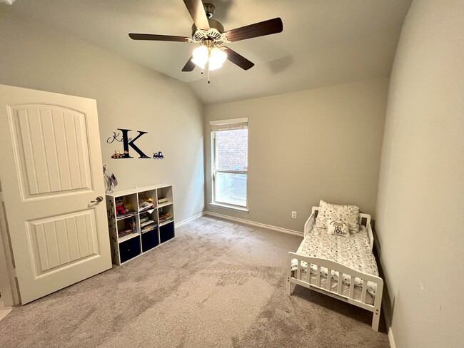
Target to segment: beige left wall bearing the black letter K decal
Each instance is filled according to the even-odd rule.
[[[177,221],[203,211],[203,105],[184,83],[1,13],[0,42],[0,83],[96,99],[103,161],[118,189],[172,183]],[[116,128],[148,131],[136,145],[165,158],[111,159],[122,150],[106,143]]]

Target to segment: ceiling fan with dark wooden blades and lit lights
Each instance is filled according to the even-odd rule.
[[[213,4],[203,4],[201,0],[183,0],[192,19],[192,36],[171,36],[156,34],[129,34],[133,40],[151,40],[151,41],[175,41],[199,44],[193,50],[193,54],[188,59],[182,71],[193,71],[195,66],[199,66],[203,73],[205,68],[208,71],[221,68],[223,63],[228,59],[237,66],[248,70],[254,63],[247,58],[236,53],[224,43],[230,43],[245,39],[256,38],[270,34],[277,34],[283,31],[282,19],[274,18],[259,23],[242,26],[241,28],[224,31],[224,27],[218,21],[211,19],[214,14]],[[209,81],[208,81],[209,82]]]

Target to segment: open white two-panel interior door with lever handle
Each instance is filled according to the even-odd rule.
[[[0,132],[21,303],[111,268],[96,101],[0,85]]]

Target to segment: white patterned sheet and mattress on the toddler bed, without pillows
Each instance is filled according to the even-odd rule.
[[[301,242],[296,252],[310,257],[322,257],[336,261],[342,265],[368,273],[378,277],[377,262],[370,250],[368,231],[365,226],[360,226],[360,231],[347,237],[328,235],[326,232],[318,232],[313,225]],[[292,260],[292,271],[297,270],[297,260]],[[301,269],[306,272],[308,265],[301,262]],[[316,276],[317,265],[311,265],[311,276]],[[327,269],[321,267],[321,277],[327,277]],[[332,279],[338,282],[338,272],[332,271]],[[350,285],[350,276],[343,275],[343,285]],[[363,281],[355,278],[355,288],[362,290]],[[368,282],[368,293],[375,297],[375,283]]]

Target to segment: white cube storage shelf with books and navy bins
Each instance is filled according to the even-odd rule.
[[[162,203],[158,200],[162,199]],[[118,215],[116,200],[132,211]],[[166,202],[164,202],[166,200]],[[146,202],[146,207],[139,203]],[[149,204],[153,202],[153,205]],[[111,258],[116,265],[152,250],[174,236],[172,185],[151,185],[106,194]]]

